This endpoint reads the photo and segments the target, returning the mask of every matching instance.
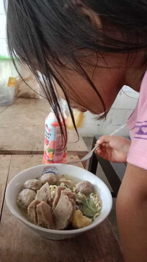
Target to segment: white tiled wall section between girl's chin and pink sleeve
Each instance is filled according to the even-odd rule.
[[[139,93],[135,92],[131,88],[124,86],[121,90],[110,109],[106,120],[95,120],[94,115],[90,112],[85,113],[84,123],[81,128],[79,128],[80,134],[82,136],[93,136],[94,134],[111,134],[117,128],[126,123],[134,108],[136,107]],[[133,97],[133,98],[131,98]],[[118,132],[120,136],[129,135],[127,127],[123,128]]]

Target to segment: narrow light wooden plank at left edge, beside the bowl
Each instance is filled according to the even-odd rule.
[[[0,220],[10,162],[11,155],[0,155]]]

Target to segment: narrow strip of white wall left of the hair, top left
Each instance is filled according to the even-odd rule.
[[[0,0],[0,55],[7,56],[7,43],[6,43],[6,16],[3,7],[3,0]]]

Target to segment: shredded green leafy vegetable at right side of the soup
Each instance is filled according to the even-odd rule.
[[[98,213],[98,209],[90,197],[82,200],[79,209],[82,211],[84,216],[89,218],[93,218],[94,215]]]

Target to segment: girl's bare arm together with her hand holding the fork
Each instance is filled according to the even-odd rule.
[[[98,155],[109,161],[126,162],[130,141],[102,136],[99,143]],[[125,262],[147,261],[147,170],[127,164],[117,196],[117,222]]]

